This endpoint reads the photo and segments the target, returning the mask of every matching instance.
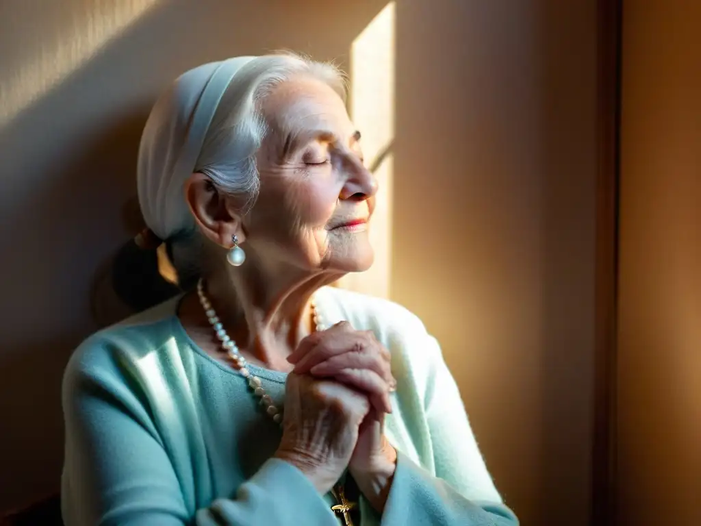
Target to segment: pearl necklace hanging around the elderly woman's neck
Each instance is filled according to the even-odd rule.
[[[226,334],[226,330],[224,329],[222,322],[219,321],[219,316],[217,316],[217,311],[215,311],[214,307],[212,307],[212,302],[210,302],[210,299],[205,294],[205,286],[201,278],[197,283],[197,295],[200,297],[200,304],[202,304],[202,308],[207,315],[207,320],[209,320],[212,328],[215,330],[219,341],[222,342],[222,349],[226,352],[226,356],[229,357],[233,363],[233,366],[236,368],[236,370],[238,370],[238,373],[244,378],[248,379],[248,385],[253,390],[253,395],[260,398],[259,403],[265,408],[265,412],[273,417],[273,420],[276,423],[281,424],[283,422],[282,411],[278,409],[278,407],[275,407],[275,404],[273,404],[273,399],[268,395],[268,393],[266,393],[262,386],[261,379],[253,375],[252,372],[248,370],[246,358],[241,356],[236,342],[234,342],[233,339]],[[319,311],[316,309],[316,304],[313,299],[311,302],[311,311],[314,316],[314,323],[317,332],[325,330],[325,325]]]

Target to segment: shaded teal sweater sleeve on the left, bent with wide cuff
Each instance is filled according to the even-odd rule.
[[[69,363],[62,400],[67,526],[337,526],[311,482],[279,459],[268,459],[231,499],[188,509],[191,499],[134,391],[114,373]]]

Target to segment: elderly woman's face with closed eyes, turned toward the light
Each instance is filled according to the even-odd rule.
[[[277,86],[261,107],[259,198],[243,218],[245,245],[267,264],[353,272],[369,268],[376,181],[343,101],[321,81]]]

